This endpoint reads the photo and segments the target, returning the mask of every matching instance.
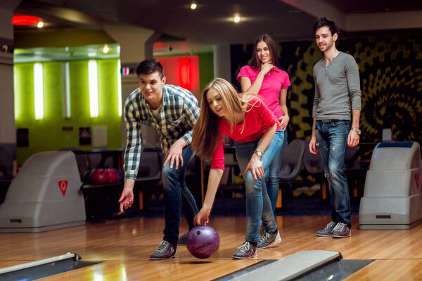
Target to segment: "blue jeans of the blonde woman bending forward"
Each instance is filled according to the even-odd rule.
[[[253,179],[252,172],[248,170],[245,174],[246,166],[250,158],[254,154],[261,139],[255,141],[240,143],[235,142],[236,157],[242,176],[245,179],[246,188],[246,241],[258,242],[260,240],[260,225],[261,219],[264,225],[264,230],[267,233],[275,233],[277,231],[274,213],[271,209],[271,203],[267,195],[267,187],[264,178],[257,181]],[[269,169],[271,162],[276,153],[283,145],[283,130],[276,131],[274,138],[269,143],[267,149],[261,157],[262,168],[264,173]]]

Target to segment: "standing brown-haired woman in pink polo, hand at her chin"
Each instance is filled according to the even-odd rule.
[[[288,111],[286,106],[287,88],[290,86],[287,72],[279,69],[279,57],[274,40],[267,34],[262,34],[255,40],[252,62],[241,68],[238,81],[241,82],[243,93],[258,94],[268,108],[276,115],[283,128],[283,146],[274,157],[264,178],[267,182],[267,192],[273,212],[276,210],[279,196],[279,180],[281,158],[287,144]],[[265,235],[264,235],[265,236]]]

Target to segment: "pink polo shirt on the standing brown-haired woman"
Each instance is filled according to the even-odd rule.
[[[245,65],[241,68],[237,79],[240,82],[241,77],[248,77],[250,79],[250,84],[253,84],[257,79],[258,74],[260,74],[260,70],[253,70],[249,65]],[[288,86],[290,86],[290,80],[288,79],[287,72],[279,70],[277,67],[274,67],[274,70],[268,72],[264,77],[264,81],[262,81],[258,95],[262,97],[264,103],[277,118],[283,116],[283,111],[281,111],[280,107],[280,91]]]

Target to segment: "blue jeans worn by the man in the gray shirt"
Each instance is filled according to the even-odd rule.
[[[345,174],[345,154],[350,121],[336,120],[330,123],[317,121],[315,129],[316,143],[331,197],[331,218],[335,223],[346,223],[351,226],[350,196]]]

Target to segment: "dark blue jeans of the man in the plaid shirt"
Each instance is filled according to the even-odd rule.
[[[181,152],[183,157],[183,166],[179,162],[179,169],[176,169],[176,163],[173,163],[173,169],[170,169],[170,161],[162,168],[162,190],[164,191],[164,217],[165,228],[164,237],[172,244],[177,244],[179,237],[179,226],[181,209],[183,207],[184,215],[189,224],[189,229],[193,228],[193,218],[198,213],[195,198],[188,190],[185,182],[186,166],[193,158],[193,148],[189,145]],[[182,204],[183,201],[183,204]]]

